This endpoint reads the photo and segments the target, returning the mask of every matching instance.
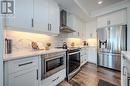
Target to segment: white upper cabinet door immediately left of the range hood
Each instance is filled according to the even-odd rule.
[[[60,27],[60,10],[54,0],[48,0],[49,3],[49,24],[50,32],[59,34]]]

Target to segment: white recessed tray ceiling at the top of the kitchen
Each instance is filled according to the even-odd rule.
[[[98,4],[98,1],[101,0],[56,0],[61,9],[65,9],[68,12],[75,14],[84,21],[95,19],[94,17],[91,17],[91,14],[97,10],[128,0],[102,0],[102,4]]]

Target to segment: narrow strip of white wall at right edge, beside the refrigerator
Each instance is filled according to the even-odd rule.
[[[127,19],[128,19],[128,28],[127,28],[127,50],[130,51],[130,1],[127,9]]]

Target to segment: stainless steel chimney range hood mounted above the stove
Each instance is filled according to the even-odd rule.
[[[65,10],[60,12],[60,31],[64,33],[75,32],[75,30],[67,25],[67,12]]]

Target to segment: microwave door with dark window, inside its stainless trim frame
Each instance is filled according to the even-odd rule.
[[[52,74],[65,68],[65,56],[61,55],[56,57],[45,58],[44,66],[44,78],[47,78]]]

